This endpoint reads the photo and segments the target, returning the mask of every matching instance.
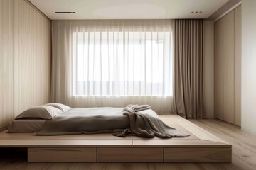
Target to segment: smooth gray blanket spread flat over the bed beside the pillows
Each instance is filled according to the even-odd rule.
[[[129,128],[127,116],[118,115],[58,115],[46,120],[38,136],[113,133]]]

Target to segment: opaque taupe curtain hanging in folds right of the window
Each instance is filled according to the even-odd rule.
[[[203,118],[203,20],[175,20],[174,45],[174,113]]]

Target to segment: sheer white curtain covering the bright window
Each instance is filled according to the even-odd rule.
[[[51,100],[171,113],[171,20],[53,21]]]

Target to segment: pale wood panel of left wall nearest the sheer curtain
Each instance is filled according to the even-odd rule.
[[[33,10],[33,104],[50,101],[50,21]]]

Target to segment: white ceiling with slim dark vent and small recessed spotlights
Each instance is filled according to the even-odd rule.
[[[165,19],[208,18],[228,0],[29,0],[48,18]],[[55,12],[75,12],[60,14]],[[191,13],[202,11],[202,13]]]

